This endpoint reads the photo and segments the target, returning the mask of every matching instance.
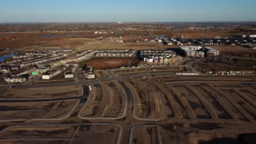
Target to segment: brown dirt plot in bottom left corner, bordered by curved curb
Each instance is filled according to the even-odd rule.
[[[0,143],[114,144],[117,143],[118,133],[118,127],[103,124],[17,125],[0,132]]]

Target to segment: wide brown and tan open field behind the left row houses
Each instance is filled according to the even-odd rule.
[[[90,32],[92,33],[92,32]],[[63,33],[64,34],[64,33]],[[71,33],[68,33],[71,34]],[[75,34],[75,33],[73,33]],[[42,50],[49,48],[56,49],[76,49],[78,51],[92,49],[159,49],[156,43],[117,43],[115,41],[96,40],[96,35],[79,36],[79,37],[56,37],[56,38],[40,38],[38,34],[9,34],[8,38],[19,38],[19,40],[9,41],[0,40],[1,49],[24,49],[26,51]],[[49,35],[55,35],[50,33]],[[60,35],[60,34],[57,34]],[[8,36],[8,35],[7,35]],[[95,37],[95,38],[94,38]],[[100,37],[100,36],[99,36]],[[14,48],[15,47],[15,48]]]

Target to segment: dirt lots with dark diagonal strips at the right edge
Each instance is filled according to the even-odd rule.
[[[256,110],[253,99],[256,95],[252,94],[255,93],[255,89],[251,86],[253,82],[250,82],[254,80],[255,77],[253,79],[237,77],[237,80],[232,80],[230,77],[226,80],[212,77],[212,80],[208,78],[200,83],[196,79],[163,81],[180,96],[185,111],[193,113],[196,118],[254,122]],[[245,91],[251,94],[248,95]],[[185,105],[188,107],[186,108]],[[195,118],[193,115],[190,118]]]

